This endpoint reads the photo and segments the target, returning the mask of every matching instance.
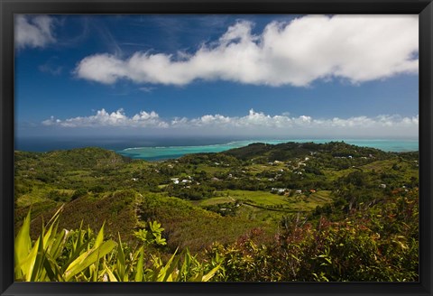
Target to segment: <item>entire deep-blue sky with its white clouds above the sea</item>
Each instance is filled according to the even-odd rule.
[[[418,16],[18,15],[15,131],[418,136]]]

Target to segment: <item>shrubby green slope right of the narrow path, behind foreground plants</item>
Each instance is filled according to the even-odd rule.
[[[164,236],[172,251],[178,246],[198,252],[215,242],[228,244],[247,235],[254,228],[264,230],[262,240],[270,239],[270,227],[242,217],[221,217],[189,202],[159,195],[145,195],[140,199],[138,215],[141,221],[160,221]]]

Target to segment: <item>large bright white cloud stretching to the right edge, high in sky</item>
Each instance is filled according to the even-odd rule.
[[[239,21],[192,54],[95,54],[80,60],[75,73],[104,84],[129,79],[182,86],[203,79],[297,87],[317,79],[361,83],[418,73],[418,15],[308,15],[269,23],[257,35],[252,29],[253,23]]]

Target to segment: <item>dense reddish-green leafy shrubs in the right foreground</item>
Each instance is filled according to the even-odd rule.
[[[221,281],[417,282],[418,216],[414,191],[353,209],[338,222],[284,217],[285,230],[271,245],[256,245],[250,236],[214,245],[208,254],[223,258]]]

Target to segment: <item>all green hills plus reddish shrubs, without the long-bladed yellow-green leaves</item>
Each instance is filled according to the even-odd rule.
[[[92,147],[14,157],[15,229],[31,211],[33,241],[54,216],[71,233],[104,226],[104,240],[126,244],[134,257],[143,245],[137,233],[152,233],[158,221],[164,244],[144,244],[143,263],[183,252],[203,274],[213,271],[206,280],[418,279],[418,152],[333,142],[253,143],[164,162]],[[114,280],[109,273],[120,267],[110,260],[119,252],[98,258],[107,266],[95,265],[97,274]],[[91,281],[84,273],[68,280]]]

